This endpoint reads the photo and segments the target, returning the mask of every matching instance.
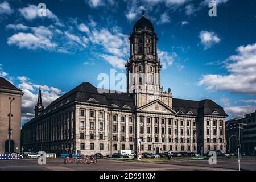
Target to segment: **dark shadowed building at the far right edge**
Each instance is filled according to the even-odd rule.
[[[237,128],[238,123],[241,125],[241,152],[245,152],[247,155],[253,155],[256,147],[256,111],[254,113],[245,114],[244,118],[230,119],[226,121],[226,139],[229,146],[229,137],[236,135],[230,139],[230,151],[237,152]],[[227,148],[228,149],[228,148]]]

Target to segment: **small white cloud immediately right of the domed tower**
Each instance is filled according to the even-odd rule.
[[[175,52],[172,52],[170,55],[170,53],[158,49],[158,58],[160,59],[160,63],[162,64],[163,69],[171,67],[171,65],[174,63],[175,57],[177,57]]]

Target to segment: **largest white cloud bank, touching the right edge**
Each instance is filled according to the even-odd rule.
[[[256,94],[256,43],[237,48],[237,55],[229,56],[225,75],[204,75],[198,85],[207,90],[230,90],[234,93]]]

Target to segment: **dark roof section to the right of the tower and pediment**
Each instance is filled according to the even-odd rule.
[[[209,99],[193,101],[172,98],[172,109],[174,109],[177,113],[182,112],[184,114],[187,114],[190,111],[194,115],[217,115],[224,117],[228,116],[228,114],[225,113],[223,107]]]

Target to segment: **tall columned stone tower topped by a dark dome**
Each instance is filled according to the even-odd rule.
[[[130,58],[126,63],[127,93],[135,94],[137,106],[156,99],[162,100],[161,94],[164,92],[160,80],[162,65],[157,53],[158,36],[150,20],[144,17],[144,10],[142,18],[134,24],[129,40]],[[166,95],[170,97],[171,93],[168,91]]]

